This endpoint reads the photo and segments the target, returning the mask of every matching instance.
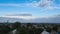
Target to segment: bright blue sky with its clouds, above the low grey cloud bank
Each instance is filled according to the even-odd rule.
[[[60,15],[60,0],[0,0],[0,17],[32,19]]]

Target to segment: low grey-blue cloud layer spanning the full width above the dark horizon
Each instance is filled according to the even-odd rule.
[[[16,18],[16,16],[5,16],[5,17],[0,17],[0,21],[3,21],[3,20],[9,20],[10,22],[12,21],[19,21],[19,22],[24,22],[24,23],[60,23],[60,14],[59,15],[53,15],[53,16],[50,16],[48,18],[46,17],[37,17],[37,18],[34,18],[34,17],[19,17],[19,18]],[[14,18],[15,17],[15,18]],[[29,18],[29,19],[27,19]],[[34,19],[33,19],[34,18]]]

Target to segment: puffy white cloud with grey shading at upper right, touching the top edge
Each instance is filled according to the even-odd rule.
[[[44,10],[60,9],[60,5],[54,3],[55,0],[40,0],[32,2],[32,6],[44,8]]]

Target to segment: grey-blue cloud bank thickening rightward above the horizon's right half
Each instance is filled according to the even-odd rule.
[[[30,20],[30,22],[33,23],[60,23],[60,14],[59,15],[53,15],[48,18],[43,17],[43,18],[35,18]]]

